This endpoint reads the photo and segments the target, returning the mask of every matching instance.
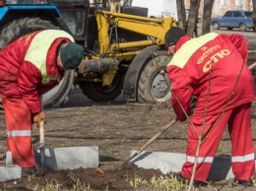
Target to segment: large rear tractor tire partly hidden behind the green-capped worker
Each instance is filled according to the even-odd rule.
[[[0,50],[25,34],[49,29],[57,30],[59,28],[53,26],[49,21],[44,21],[40,18],[23,18],[15,20],[3,27],[0,36]],[[42,96],[42,104],[44,108],[59,107],[68,100],[68,95],[70,94],[74,81],[74,79],[72,79],[73,76],[73,71],[67,71],[60,84]]]

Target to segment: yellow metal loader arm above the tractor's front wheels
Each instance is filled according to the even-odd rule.
[[[142,48],[154,44],[162,45],[164,44],[165,32],[167,32],[171,27],[176,26],[173,18],[152,19],[101,10],[96,13],[96,22],[100,53],[107,54],[108,56],[111,53],[118,52],[123,49]],[[144,34],[151,38],[140,41],[109,43],[111,41],[111,36],[108,35],[108,33],[111,29],[124,29],[130,32]]]

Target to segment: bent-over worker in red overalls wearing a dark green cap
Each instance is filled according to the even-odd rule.
[[[7,151],[23,174],[36,172],[32,122],[46,122],[40,96],[59,84],[65,70],[78,68],[83,46],[67,32],[32,32],[0,52],[0,96],[7,131]]]

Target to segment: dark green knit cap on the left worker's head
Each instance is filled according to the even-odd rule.
[[[60,47],[60,59],[65,69],[76,69],[84,58],[84,47],[75,42]]]

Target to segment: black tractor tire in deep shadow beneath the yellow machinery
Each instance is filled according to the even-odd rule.
[[[102,86],[101,82],[83,82],[81,83],[80,89],[83,94],[89,99],[96,102],[106,102],[114,100],[117,96],[120,96],[123,90],[125,73],[117,72],[112,85]]]

